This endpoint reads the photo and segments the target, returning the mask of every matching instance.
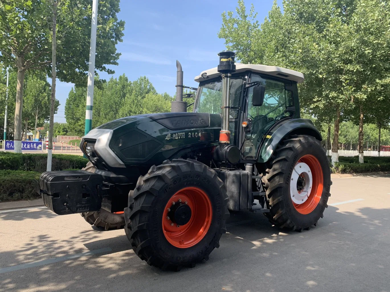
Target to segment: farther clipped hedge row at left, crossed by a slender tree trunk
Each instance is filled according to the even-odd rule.
[[[88,160],[78,155],[53,154],[51,170],[81,169]],[[46,171],[47,154],[14,153],[0,151],[0,170]]]

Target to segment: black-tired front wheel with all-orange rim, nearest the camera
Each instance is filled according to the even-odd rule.
[[[140,176],[129,193],[125,231],[149,265],[180,270],[208,260],[226,232],[225,185],[195,160],[166,160]]]

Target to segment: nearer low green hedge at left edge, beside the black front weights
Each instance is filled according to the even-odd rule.
[[[0,202],[39,198],[34,191],[34,179],[39,176],[33,171],[0,170]]]

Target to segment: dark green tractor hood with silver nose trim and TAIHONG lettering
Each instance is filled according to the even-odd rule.
[[[80,148],[103,171],[151,166],[218,143],[220,128],[220,114],[143,114],[94,128],[82,138]]]

